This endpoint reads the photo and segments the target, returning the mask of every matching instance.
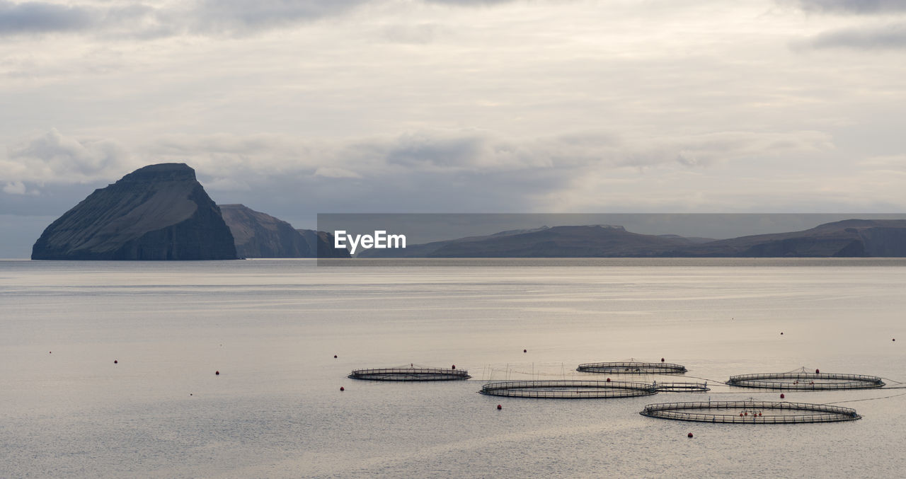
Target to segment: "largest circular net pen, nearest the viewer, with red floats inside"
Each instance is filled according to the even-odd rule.
[[[862,418],[849,407],[756,400],[650,404],[639,414],[678,421],[728,424],[831,423]]]

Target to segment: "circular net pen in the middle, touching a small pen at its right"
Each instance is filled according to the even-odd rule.
[[[642,382],[563,379],[490,382],[478,392],[508,398],[598,399],[650,396],[658,390]]]

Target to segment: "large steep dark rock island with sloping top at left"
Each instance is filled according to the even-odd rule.
[[[139,168],[47,226],[33,260],[236,259],[220,210],[183,163]]]

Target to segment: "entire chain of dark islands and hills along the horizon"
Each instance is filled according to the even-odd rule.
[[[32,259],[348,258],[333,235],[297,230],[243,205],[217,206],[182,163],[137,169],[47,226]],[[805,231],[714,240],[641,235],[616,225],[542,226],[357,257],[904,257],[906,220],[850,219]]]

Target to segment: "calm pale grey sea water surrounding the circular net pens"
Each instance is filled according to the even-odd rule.
[[[901,386],[906,262],[415,264],[0,262],[0,477],[906,476],[906,389],[786,393],[863,415],[846,423],[638,414],[778,399],[719,384],[734,374],[820,368]],[[712,390],[477,394],[487,379],[660,358]],[[473,379],[346,378],[410,363]],[[653,378],[666,379],[634,379]]]

